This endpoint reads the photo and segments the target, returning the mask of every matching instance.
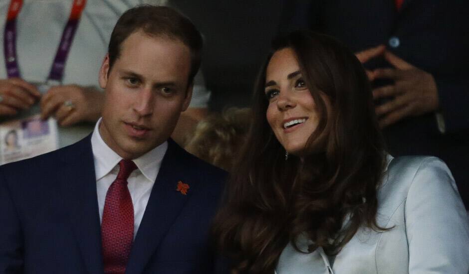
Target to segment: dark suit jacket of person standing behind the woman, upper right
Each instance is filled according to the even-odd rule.
[[[397,56],[433,75],[446,133],[438,131],[435,115],[429,113],[391,125],[384,135],[394,156],[443,159],[469,208],[469,1],[404,0],[399,11],[395,0],[282,2],[281,32],[309,28],[338,38],[354,52],[385,44]],[[391,67],[384,58],[365,66]]]

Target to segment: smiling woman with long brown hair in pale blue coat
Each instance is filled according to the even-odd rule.
[[[232,273],[468,273],[448,167],[393,158],[362,65],[313,32],[274,40],[214,224]]]

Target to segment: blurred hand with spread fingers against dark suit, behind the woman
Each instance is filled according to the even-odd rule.
[[[409,116],[436,111],[440,102],[434,77],[397,57],[389,51],[384,58],[394,68],[380,68],[371,72],[370,79],[392,79],[394,85],[373,90],[373,98],[392,98],[376,107],[380,127],[384,128]]]

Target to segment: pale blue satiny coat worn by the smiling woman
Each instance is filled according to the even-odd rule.
[[[289,244],[277,274],[468,274],[466,210],[446,164],[436,157],[388,158],[378,189],[377,221],[360,228],[333,264],[322,249],[302,254]],[[299,243],[307,250],[307,241]]]

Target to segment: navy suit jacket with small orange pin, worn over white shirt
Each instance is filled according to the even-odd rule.
[[[170,139],[126,273],[215,273],[208,235],[226,175]],[[0,232],[0,274],[103,273],[90,136],[0,166]]]

